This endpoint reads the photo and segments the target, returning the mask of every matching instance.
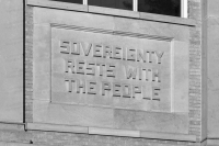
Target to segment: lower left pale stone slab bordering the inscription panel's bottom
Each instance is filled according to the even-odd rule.
[[[113,127],[113,110],[84,105],[51,104],[34,100],[33,121],[77,126]]]

